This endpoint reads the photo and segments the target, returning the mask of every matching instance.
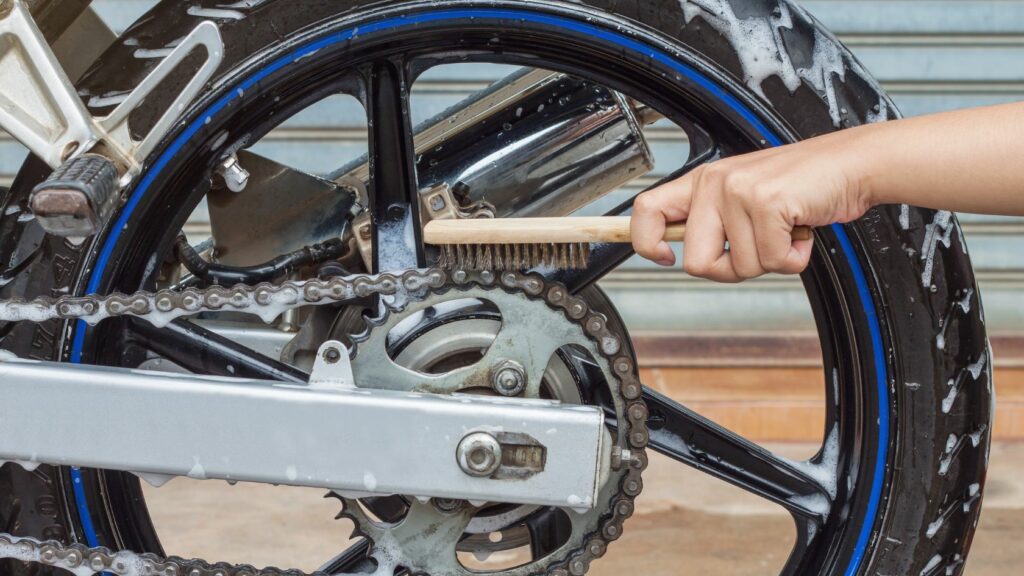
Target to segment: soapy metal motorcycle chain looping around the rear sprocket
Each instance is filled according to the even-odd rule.
[[[162,290],[132,295],[39,298],[29,302],[10,300],[0,302],[0,320],[43,322],[56,318],[96,323],[104,318],[135,316],[161,325],[170,322],[168,318],[173,320],[206,311],[246,312],[273,319],[290,307],[341,302],[371,294],[395,294],[399,289],[410,292],[438,289],[450,281],[456,285],[472,283],[482,287],[517,289],[530,297],[543,298],[552,307],[561,310],[566,318],[580,323],[587,335],[598,342],[599,349],[618,379],[618,392],[627,402],[625,414],[629,428],[626,438],[630,449],[628,457],[623,452],[617,460],[620,465],[628,466],[629,472],[622,480],[618,493],[611,502],[609,512],[602,519],[599,530],[586,537],[582,548],[557,566],[549,567],[546,573],[548,576],[583,576],[593,561],[605,554],[608,544],[622,536],[624,523],[633,515],[634,501],[643,489],[641,474],[647,466],[648,413],[641,398],[642,386],[637,367],[631,356],[624,352],[624,336],[609,329],[603,315],[591,311],[586,301],[569,294],[564,286],[548,286],[540,278],[516,273],[496,275],[489,271],[456,271],[450,274],[431,269],[410,271],[401,276],[356,276],[288,282],[276,286],[262,284],[181,292]],[[204,560],[161,558],[128,550],[113,551],[104,547],[44,542],[4,533],[0,533],[0,559],[60,568],[75,576],[98,573],[115,576],[337,576],[319,571],[305,573],[279,568],[257,569],[247,565],[209,564]]]

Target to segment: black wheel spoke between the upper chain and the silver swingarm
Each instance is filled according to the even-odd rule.
[[[164,328],[125,323],[127,339],[198,374],[306,383],[309,375],[183,319]]]

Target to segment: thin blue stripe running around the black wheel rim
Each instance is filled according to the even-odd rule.
[[[93,268],[92,276],[86,287],[87,293],[96,292],[99,289],[99,285],[102,282],[104,272],[110,263],[111,254],[114,252],[120,234],[127,227],[135,208],[138,206],[142,197],[156,181],[157,177],[160,176],[161,171],[167,166],[167,164],[173,159],[177,153],[205,125],[206,121],[224,110],[231,101],[241,97],[241,95],[246,91],[255,86],[260,81],[264,80],[271,74],[282,70],[283,68],[294,64],[295,61],[301,59],[304,56],[311,54],[322,48],[338,44],[341,42],[346,42],[352,40],[359,34],[373,34],[377,32],[387,32],[395,31],[401,28],[414,27],[422,24],[447,22],[447,20],[466,20],[466,19],[520,19],[524,22],[530,22],[535,24],[541,24],[545,26],[551,26],[555,28],[561,28],[569,30],[575,33],[585,34],[606,42],[611,42],[617,44],[623,48],[631,50],[637,54],[651,58],[654,61],[668,66],[669,68],[675,70],[679,74],[682,74],[690,81],[694,82],[697,86],[705,89],[709,95],[718,98],[723,101],[729,108],[731,108],[736,114],[738,114],[743,120],[750,123],[761,136],[765,139],[768,145],[773,147],[781,146],[784,143],[781,138],[779,138],[765,123],[754,113],[748,106],[740,101],[735,95],[727,92],[722,86],[716,84],[710,78],[699,73],[690,66],[674,58],[667,52],[648,46],[636,39],[630,38],[623,34],[615,32],[610,32],[598,28],[594,25],[585,24],[569,19],[562,16],[555,16],[550,14],[535,13],[526,10],[519,9],[495,9],[495,8],[473,8],[473,9],[446,9],[446,10],[436,10],[432,12],[425,12],[421,14],[414,14],[408,16],[398,16],[385,18],[378,22],[371,23],[361,27],[351,28],[343,31],[336,32],[334,34],[328,35],[318,40],[309,42],[289,54],[282,56],[264,67],[260,71],[256,72],[252,76],[243,80],[238,88],[231,92],[228,92],[220,99],[215,101],[206,112],[199,116],[191,124],[189,124],[185,130],[178,135],[177,138],[171,142],[170,147],[160,156],[160,158],[154,163],[154,165],[145,173],[144,177],[139,181],[138,187],[135,189],[128,203],[125,205],[124,209],[121,211],[121,215],[118,218],[115,225],[111,229],[113,232],[106,238],[106,242],[96,259],[95,265]],[[874,478],[872,479],[871,485],[871,495],[868,501],[867,507],[867,519],[861,527],[860,535],[857,539],[857,545],[854,549],[853,557],[849,566],[845,571],[846,576],[852,576],[860,568],[860,564],[863,561],[864,553],[867,549],[868,539],[870,538],[871,528],[874,525],[876,516],[878,515],[879,505],[882,500],[882,487],[885,481],[885,464],[888,458],[888,442],[889,437],[889,388],[888,388],[888,376],[882,340],[882,329],[879,325],[878,315],[874,310],[874,302],[871,299],[871,293],[868,289],[867,279],[864,276],[864,271],[860,265],[860,261],[857,259],[856,252],[854,251],[853,244],[850,241],[849,236],[847,236],[846,230],[841,224],[834,224],[831,227],[834,234],[839,239],[840,244],[843,247],[843,252],[847,257],[850,264],[850,271],[857,284],[857,292],[860,298],[861,305],[864,311],[864,315],[867,318],[868,327],[871,332],[871,343],[873,347],[874,355],[874,366],[876,366],[876,378],[878,380],[878,394],[879,394],[879,444],[877,447],[877,458],[876,458],[876,468]],[[75,339],[72,345],[71,362],[81,363],[82,361],[82,351],[85,345],[85,332],[86,324],[84,322],[79,322],[75,330]],[[82,521],[82,528],[85,531],[86,540],[90,546],[97,545],[97,536],[93,527],[92,517],[89,512],[88,506],[86,505],[85,491],[82,486],[81,472],[78,468],[72,468],[72,480],[75,489],[75,499],[78,504],[79,517]]]

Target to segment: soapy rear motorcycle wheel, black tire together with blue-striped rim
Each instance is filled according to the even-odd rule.
[[[44,237],[10,209],[24,210],[29,191],[46,175],[41,163],[30,160],[3,201],[0,254],[16,274],[0,297],[146,286],[154,255],[168,253],[201,196],[194,184],[232,143],[216,143],[222,130],[262,134],[268,118],[280,122],[323,97],[331,70],[384,56],[394,61],[420,50],[422,59],[429,51],[435,63],[526,64],[593,80],[693,129],[691,140],[700,142],[695,161],[898,115],[856,59],[784,0],[271,0],[227,15],[194,4],[158,5],[79,87],[84,94],[131,88],[155,66],[135,51],[164,48],[208,17],[204,13],[225,39],[225,64],[214,85],[150,159],[127,204],[91,243]],[[758,27],[776,42],[761,46],[767,52],[752,52],[742,35],[729,32],[732,23]],[[775,63],[776,74],[755,74],[765,69],[751,58]],[[842,73],[829,68],[837,63]],[[169,91],[147,102],[136,125],[152,122],[170,97]],[[825,436],[838,430],[835,472],[845,480],[835,483],[827,519],[813,537],[806,530],[807,509],[791,502],[799,537],[784,573],[958,573],[980,512],[992,396],[981,305],[955,218],[884,206],[856,222],[819,231],[816,245],[804,283],[826,381],[834,373],[837,381],[836,392],[827,393],[835,409]],[[609,254],[599,272],[621,256]],[[597,276],[563,280],[582,287]],[[0,334],[4,348],[24,357],[112,362],[118,361],[108,345],[114,331],[50,323],[8,325]],[[937,345],[938,338],[945,345]],[[943,406],[950,396],[952,409]],[[700,450],[712,460],[732,458],[745,468],[727,480],[762,495],[771,494],[766,487],[780,479],[758,474],[792,469],[671,401],[651,395],[648,403],[663,422],[660,428],[652,425],[657,451],[684,461],[684,452]],[[87,434],[96,417],[52,425]],[[688,435],[684,446],[675,440],[680,430]],[[824,449],[817,461],[823,456]],[[689,458],[691,465],[707,466],[707,460]],[[778,492],[772,497],[784,500]],[[27,472],[6,465],[0,470],[0,527],[18,535],[162,551],[137,479],[122,472],[48,466]],[[41,573],[11,563],[0,570]]]

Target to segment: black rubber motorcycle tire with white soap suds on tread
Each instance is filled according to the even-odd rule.
[[[143,16],[81,81],[83,97],[135,86],[156,66],[153,59],[134,57],[135,50],[161,49],[181,38],[202,19],[193,15],[202,13],[190,9],[197,4],[214,7],[217,3],[168,0]],[[755,115],[769,119],[763,122],[778,141],[768,138],[766,145],[898,117],[895,106],[854,56],[813,17],[784,0],[270,0],[252,4],[237,8],[230,17],[213,19],[225,39],[224,64],[209,93],[186,113],[181,126],[232,91],[237,79],[303,38],[324,34],[322,29],[341,20],[429,10],[437,4],[460,9],[527,9],[575,22],[592,18],[608,29],[625,28],[638,43],[697,63]],[[716,8],[717,15],[700,6]],[[222,10],[210,13],[223,16]],[[758,74],[764,69],[751,64],[752,48],[742,38],[733,41],[722,14],[742,19],[775,39],[759,53],[762,61],[776,63],[775,74],[764,78],[765,74]],[[660,66],[654,59],[647,66]],[[152,123],[173,93],[167,90],[151,98],[134,117],[133,128]],[[169,142],[170,138],[150,164]],[[8,273],[0,297],[82,293],[97,265],[96,252],[105,235],[94,243],[76,245],[45,237],[35,222],[19,217],[26,213],[29,192],[47,171],[37,159],[30,159],[3,201],[0,255]],[[880,454],[885,458],[876,469],[880,476],[874,504],[865,504],[874,505],[877,515],[857,543],[837,552],[859,558],[855,563],[835,565],[829,573],[958,574],[980,513],[992,417],[991,359],[967,245],[948,212],[907,206],[874,208],[841,230],[845,232],[837,232],[836,239],[822,242],[833,252],[855,254],[850,266],[860,271],[859,281],[851,276],[844,282],[865,302],[854,322],[872,327],[874,340],[858,341],[876,354],[865,366],[873,366],[872,377],[881,387],[872,394],[886,409],[869,416],[879,422],[879,445],[885,447]],[[119,250],[119,254],[129,253]],[[25,358],[74,361],[74,328],[59,323],[7,325],[0,328],[2,347]],[[883,426],[883,421],[888,425]],[[144,522],[144,508],[140,518],[128,523],[99,513],[83,517],[85,506],[102,509],[101,493],[140,500],[134,479],[118,478],[48,466],[30,474],[6,465],[0,470],[0,529],[160,552],[152,549],[158,544],[148,533],[152,526]],[[75,483],[82,483],[84,490],[75,492]],[[858,520],[852,516],[850,522]],[[855,545],[859,547],[854,549]],[[0,572],[44,573],[37,567],[13,564],[0,565]]]

